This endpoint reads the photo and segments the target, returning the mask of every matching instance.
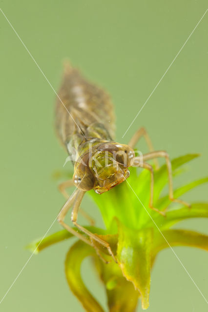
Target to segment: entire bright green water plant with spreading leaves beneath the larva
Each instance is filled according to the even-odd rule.
[[[173,177],[182,174],[182,166],[197,156],[189,154],[172,160]],[[154,177],[154,206],[165,212],[165,216],[148,208],[150,176],[145,170],[131,168],[125,182],[102,195],[93,190],[89,192],[101,211],[105,229],[93,226],[86,228],[110,244],[117,262],[95,241],[92,242],[95,248],[81,240],[70,247],[65,259],[66,279],[71,291],[88,312],[104,312],[104,308],[83,283],[81,264],[86,257],[92,258],[94,268],[104,284],[109,311],[133,312],[138,299],[143,309],[149,306],[150,273],[161,250],[173,246],[208,250],[208,236],[172,229],[174,224],[182,220],[208,217],[208,203],[192,203],[191,208],[171,203],[168,195],[161,195],[167,184],[166,165],[155,171]],[[176,189],[174,198],[205,182],[208,182],[208,177]],[[33,242],[28,248],[39,253],[72,236],[62,230]]]

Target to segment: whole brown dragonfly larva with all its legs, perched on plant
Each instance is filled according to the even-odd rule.
[[[74,163],[73,179],[63,182],[59,187],[67,201],[62,207],[58,221],[67,231],[87,244],[93,245],[92,241],[96,240],[107,248],[114,258],[107,242],[77,223],[78,211],[83,195],[87,191],[94,189],[98,194],[109,191],[128,178],[128,168],[131,166],[149,170],[151,177],[149,208],[163,214],[153,206],[153,168],[146,161],[154,159],[157,169],[156,159],[164,157],[167,165],[169,198],[171,201],[188,206],[186,202],[173,198],[171,163],[168,154],[165,151],[153,150],[151,140],[144,128],[140,128],[127,145],[114,141],[114,113],[109,96],[104,90],[85,80],[80,72],[69,64],[65,65],[57,100],[56,129]],[[135,156],[134,148],[142,136],[145,137],[150,152]],[[72,150],[76,153],[72,153]],[[69,197],[65,189],[73,185],[76,186],[76,190]],[[71,207],[71,221],[87,236],[75,231],[64,222],[64,217]]]

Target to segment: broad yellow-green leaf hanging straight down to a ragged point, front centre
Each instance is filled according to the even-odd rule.
[[[151,244],[152,229],[132,230],[119,223],[118,264],[140,292],[143,309],[149,306]]]

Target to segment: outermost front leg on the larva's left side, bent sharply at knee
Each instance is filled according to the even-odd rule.
[[[92,246],[91,242],[89,241],[89,239],[87,239],[85,236],[83,236],[82,234],[78,233],[77,231],[75,231],[74,229],[72,229],[71,227],[69,227],[65,222],[63,222],[68,210],[72,207],[76,196],[78,195],[79,190],[77,189],[66,201],[66,203],[63,205],[59,215],[58,215],[58,222],[62,225],[62,227],[64,227],[64,229],[66,229],[69,233],[77,236],[79,239],[83,240],[86,244]]]

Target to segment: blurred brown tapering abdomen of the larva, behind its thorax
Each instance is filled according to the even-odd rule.
[[[74,135],[86,136],[87,127],[94,123],[102,123],[114,137],[111,100],[101,88],[85,80],[77,69],[67,64],[56,104],[58,136],[66,145]]]

